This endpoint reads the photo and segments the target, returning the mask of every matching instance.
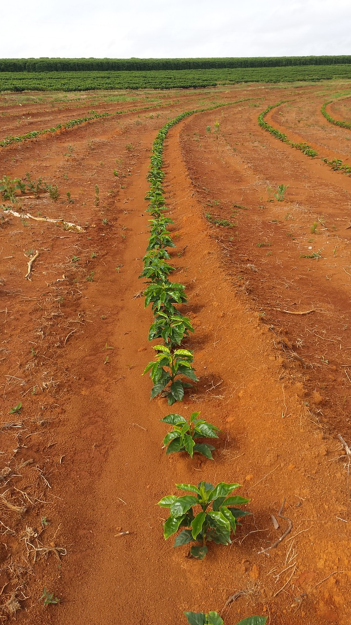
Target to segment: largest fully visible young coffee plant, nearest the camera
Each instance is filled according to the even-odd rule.
[[[175,537],[174,546],[187,544],[188,542],[200,542],[190,548],[189,556],[199,560],[207,554],[207,542],[229,545],[232,541],[230,534],[235,534],[237,519],[250,514],[237,507],[246,504],[250,499],[234,496],[232,491],[240,484],[226,484],[220,482],[213,486],[208,482],[200,482],[198,486],[192,484],[175,484],[181,491],[190,491],[191,495],[177,497],[169,495],[162,497],[158,505],[169,508],[170,516],[164,523],[164,538],[167,540],[175,534],[179,527],[185,527]],[[197,511],[200,507],[200,511]],[[195,510],[193,509],[195,508]]]

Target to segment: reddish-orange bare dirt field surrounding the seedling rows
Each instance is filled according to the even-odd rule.
[[[351,164],[351,131],[320,113],[350,88],[1,96],[0,139],[125,113],[0,148],[0,178],[59,190],[27,194],[20,212],[82,229],[1,208],[0,622],[185,624],[184,610],[215,610],[225,625],[350,624],[351,452],[338,435],[351,446],[351,178],[257,124],[287,100],[267,121]],[[141,376],[152,141],[184,111],[240,99],[166,139],[172,279],[199,377],[170,409]],[[350,98],[328,110],[350,121]],[[159,419],[193,411],[221,430],[214,461],[162,449]],[[239,482],[253,514],[197,561],[164,541],[156,503],[202,480]],[[58,604],[44,606],[44,587]]]

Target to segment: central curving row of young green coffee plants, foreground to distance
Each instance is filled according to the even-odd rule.
[[[231,103],[234,104],[234,103]],[[218,108],[217,105],[210,109]],[[170,250],[175,247],[168,227],[173,224],[166,216],[167,206],[164,196],[163,150],[164,140],[169,129],[182,119],[202,111],[187,111],[169,121],[152,144],[151,166],[147,179],[149,202],[149,244],[144,255],[144,269],[139,277],[146,279],[144,290],[145,307],[151,305],[154,321],[149,330],[149,341],[162,339],[163,344],[154,346],[156,359],[147,364],[144,373],[149,372],[152,379],[151,399],[161,395],[167,397],[169,405],[182,401],[184,390],[197,381],[194,368],[194,354],[182,347],[182,341],[189,339],[194,328],[189,317],[184,316],[177,306],[187,301],[185,287],[178,282],[171,282],[170,276],[175,268],[171,264]],[[189,382],[190,381],[190,382]],[[192,458],[194,453],[212,459],[214,446],[196,442],[199,438],[218,438],[219,428],[199,418],[199,412],[192,412],[189,422],[180,414],[167,414],[162,422],[172,426],[172,431],[164,438],[166,454],[187,452]],[[208,551],[207,544],[230,545],[231,534],[235,534],[239,519],[250,514],[238,506],[247,504],[245,497],[232,496],[240,484],[219,482],[214,485],[202,481],[195,484],[175,484],[187,494],[175,494],[162,497],[158,505],[169,509],[169,517],[164,522],[164,538],[175,536],[174,546],[192,543],[189,557],[204,559]],[[180,531],[179,531],[180,530]],[[190,625],[222,625],[223,620],[217,612],[185,612]],[[264,625],[265,617],[250,617],[242,625]]]

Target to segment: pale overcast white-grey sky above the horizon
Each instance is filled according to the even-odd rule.
[[[351,1],[2,0],[0,58],[351,54]]]

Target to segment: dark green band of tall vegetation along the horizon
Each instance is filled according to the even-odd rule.
[[[0,72],[150,71],[347,65],[351,56],[262,56],[222,59],[0,59]]]

